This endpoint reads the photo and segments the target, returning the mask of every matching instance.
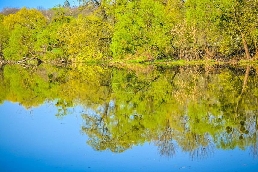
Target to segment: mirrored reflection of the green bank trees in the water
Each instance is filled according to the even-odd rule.
[[[0,102],[48,102],[56,116],[81,116],[95,150],[123,152],[145,142],[163,157],[204,159],[216,149],[257,158],[258,67],[220,65],[1,65]],[[111,82],[112,81],[112,82]],[[115,82],[116,81],[116,82]],[[76,113],[74,107],[84,111]]]

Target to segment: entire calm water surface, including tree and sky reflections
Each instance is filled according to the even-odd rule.
[[[0,171],[257,171],[258,66],[0,66]]]

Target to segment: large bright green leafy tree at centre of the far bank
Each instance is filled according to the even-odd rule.
[[[173,11],[166,12],[159,2],[142,0],[121,2],[114,12],[116,23],[111,44],[114,55],[148,50],[157,59],[167,57],[166,51],[175,36],[171,32]]]

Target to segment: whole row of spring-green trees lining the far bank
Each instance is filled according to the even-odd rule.
[[[40,6],[4,8],[0,25],[9,31],[4,32],[7,40],[1,44],[2,58],[16,60],[33,54],[44,60],[59,56],[66,61],[234,61],[244,56],[255,59],[258,55],[256,0],[79,3],[79,7],[71,8],[66,0],[62,7],[59,4],[47,10]],[[49,46],[52,51],[46,50]]]

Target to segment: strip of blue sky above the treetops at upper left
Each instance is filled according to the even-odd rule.
[[[0,0],[0,9],[4,7],[27,7],[37,8],[42,5],[44,8],[52,8],[54,5],[61,4],[63,6],[65,0]],[[68,0],[70,5],[73,5],[73,0]],[[79,5],[77,0],[74,0],[75,5]]]

